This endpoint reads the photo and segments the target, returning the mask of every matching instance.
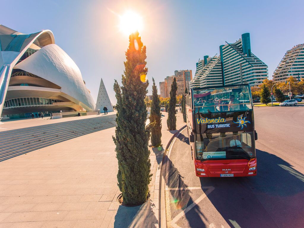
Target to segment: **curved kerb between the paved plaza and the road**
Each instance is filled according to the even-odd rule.
[[[166,222],[166,207],[165,207],[165,168],[166,168],[166,160],[167,160],[167,152],[168,148],[171,145],[172,141],[174,138],[183,130],[186,128],[187,125],[181,127],[177,132],[174,133],[174,135],[171,137],[171,139],[168,141],[166,148],[164,150],[164,156],[163,160],[161,162],[161,178],[159,179],[159,215],[158,215],[158,220],[159,220],[159,227],[160,228],[166,228],[167,227],[167,222]]]

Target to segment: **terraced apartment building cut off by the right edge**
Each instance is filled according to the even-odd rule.
[[[304,43],[294,46],[286,51],[284,57],[273,73],[273,81],[285,81],[289,77],[298,80],[304,78]]]

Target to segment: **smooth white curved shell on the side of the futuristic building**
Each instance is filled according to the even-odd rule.
[[[95,108],[90,92],[85,87],[81,72],[70,56],[56,44],[49,44],[16,65],[61,87],[61,92],[86,110]]]

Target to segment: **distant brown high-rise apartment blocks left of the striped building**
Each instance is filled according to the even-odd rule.
[[[185,88],[189,90],[189,82],[192,80],[192,70],[174,71],[174,75],[168,76],[159,83],[161,97],[169,97],[173,79],[176,78],[177,95],[182,95]]]

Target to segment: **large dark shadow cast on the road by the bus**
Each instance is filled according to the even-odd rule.
[[[287,150],[286,150],[287,151]],[[200,178],[231,227],[304,227],[304,176],[281,158],[256,150],[257,176]]]

